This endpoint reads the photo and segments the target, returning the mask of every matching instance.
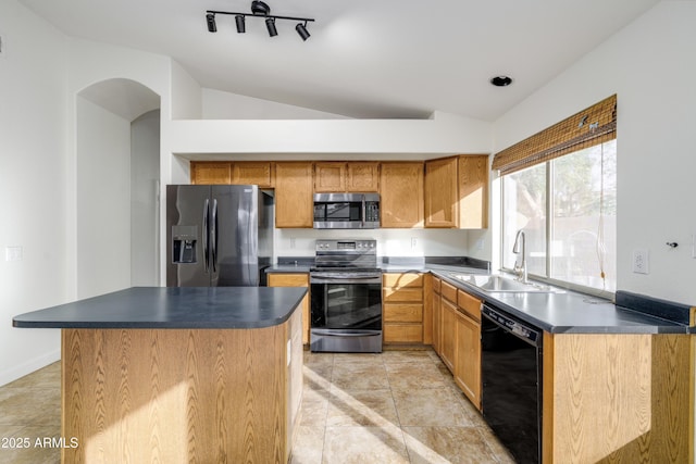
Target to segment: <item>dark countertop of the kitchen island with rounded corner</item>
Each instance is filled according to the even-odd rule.
[[[301,287],[133,287],[21,314],[27,328],[232,328],[285,323],[307,293]]]

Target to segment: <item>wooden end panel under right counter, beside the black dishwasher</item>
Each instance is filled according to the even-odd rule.
[[[692,463],[692,337],[546,335],[544,463]]]

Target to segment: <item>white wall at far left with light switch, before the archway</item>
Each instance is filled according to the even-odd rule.
[[[64,303],[66,272],[65,38],[13,0],[0,2],[0,385],[60,356],[60,331],[12,317]],[[5,248],[22,260],[7,262]]]

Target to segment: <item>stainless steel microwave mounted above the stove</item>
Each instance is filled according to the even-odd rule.
[[[376,229],[380,193],[314,193],[315,229]]]

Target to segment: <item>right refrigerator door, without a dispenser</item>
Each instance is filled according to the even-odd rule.
[[[257,186],[212,186],[211,286],[259,285],[258,202]]]

